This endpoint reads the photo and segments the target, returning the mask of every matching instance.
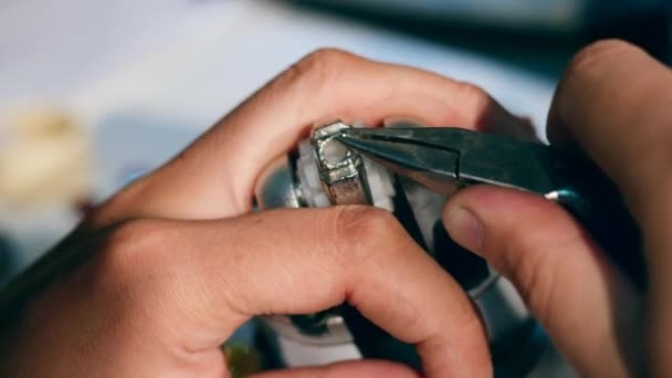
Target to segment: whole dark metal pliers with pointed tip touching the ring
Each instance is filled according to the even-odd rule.
[[[544,196],[574,214],[617,265],[645,287],[637,223],[618,188],[587,158],[459,127],[345,128],[336,138],[435,192],[485,183]]]

